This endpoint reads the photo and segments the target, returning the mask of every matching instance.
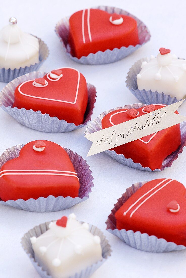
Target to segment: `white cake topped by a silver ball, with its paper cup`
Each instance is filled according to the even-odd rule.
[[[36,71],[47,59],[49,49],[36,36],[22,32],[17,19],[11,17],[9,24],[0,30],[0,81]]]

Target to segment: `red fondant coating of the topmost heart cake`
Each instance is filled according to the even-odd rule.
[[[87,9],[72,14],[69,20],[69,44],[71,45],[72,55],[80,58],[81,56],[87,56],[89,53],[96,53],[99,50],[112,50],[122,46],[127,47],[139,44],[135,19],[130,16],[119,15],[119,18],[123,18],[123,23],[114,25],[109,21],[112,15],[115,17],[115,14],[109,14],[99,9],[90,9],[90,16],[88,16]],[[84,24],[82,24],[82,18]]]

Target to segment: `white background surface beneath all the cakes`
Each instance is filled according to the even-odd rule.
[[[15,16],[24,31],[42,38],[49,46],[50,55],[43,64],[42,71],[48,72],[63,66],[74,67],[81,71],[87,82],[97,88],[97,101],[92,119],[110,108],[138,102],[125,87],[127,72],[137,59],[150,54],[157,55],[160,47],[170,48],[177,56],[186,58],[186,2],[184,0],[0,0],[0,4],[0,28],[7,24],[9,17]],[[134,14],[149,27],[152,38],[135,53],[116,63],[100,66],[77,64],[66,56],[54,33],[54,26],[64,16],[99,4],[116,6]],[[5,85],[0,83],[0,89]],[[186,103],[181,106],[179,112],[186,115]],[[85,128],[82,128],[63,134],[41,133],[22,126],[0,110],[0,153],[13,145],[45,139],[70,148],[86,158],[91,143],[83,137],[84,130]],[[71,212],[75,212],[79,220],[98,226],[104,231],[112,246],[111,257],[92,278],[185,277],[186,250],[164,254],[142,252],[124,244],[105,231],[105,221],[110,210],[132,183],[155,178],[174,178],[186,185],[185,152],[186,149],[171,168],[161,173],[128,168],[104,153],[89,157],[87,162],[94,177],[94,188],[90,198],[63,212],[34,213],[1,205],[0,277],[38,278],[39,275],[21,247],[21,237],[34,226],[58,219]]]

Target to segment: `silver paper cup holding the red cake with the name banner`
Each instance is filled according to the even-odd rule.
[[[142,103],[135,103],[135,104],[119,106],[119,107],[107,110],[107,111],[101,113],[97,118],[94,119],[94,121],[92,121],[92,123],[90,123],[87,126],[87,128],[85,130],[85,135],[102,130],[102,123],[101,123],[102,118],[104,118],[104,116],[107,115],[108,113],[118,110],[118,109],[131,109],[131,108],[138,109],[143,106],[146,106],[146,105],[142,104]],[[162,171],[166,167],[170,167],[172,165],[172,163],[174,162],[174,160],[177,160],[178,155],[183,152],[183,148],[186,146],[186,122],[185,121],[180,123],[180,131],[181,131],[181,145],[175,152],[173,152],[171,155],[169,155],[168,157],[166,157],[164,159],[164,161],[162,163],[162,167],[160,169],[151,170],[149,167],[143,167],[140,163],[133,162],[133,160],[131,158],[125,158],[124,155],[122,155],[122,154],[118,155],[114,150],[112,150],[112,151],[107,150],[107,151],[105,151],[105,153],[107,153],[107,155],[112,157],[117,162],[122,163],[123,165],[129,166],[131,168],[149,171],[149,172]]]

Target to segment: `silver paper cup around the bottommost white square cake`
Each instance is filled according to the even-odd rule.
[[[48,226],[50,223],[51,221],[34,227],[32,230],[29,230],[26,234],[24,234],[24,237],[22,237],[21,239],[23,249],[25,250],[35,269],[42,278],[52,278],[52,276],[47,274],[46,270],[44,270],[44,268],[41,265],[39,265],[39,263],[35,260],[34,250],[32,249],[30,238],[33,236],[39,237],[39,235],[46,232],[49,229]],[[83,222],[80,223],[82,224]],[[112,252],[112,250],[110,249],[108,240],[106,239],[105,235],[101,232],[101,230],[95,227],[94,225],[89,225],[89,231],[91,232],[91,234],[98,235],[100,237],[103,259],[68,278],[88,278],[95,272],[95,270],[97,270],[105,262],[105,260],[108,259],[108,257],[110,257],[110,253]]]

